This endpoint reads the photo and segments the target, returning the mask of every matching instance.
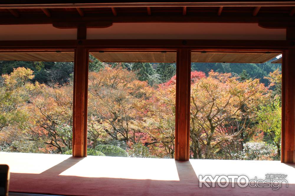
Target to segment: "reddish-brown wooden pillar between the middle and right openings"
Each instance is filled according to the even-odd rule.
[[[175,160],[189,160],[191,51],[176,55]]]

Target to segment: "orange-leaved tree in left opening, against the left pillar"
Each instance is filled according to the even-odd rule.
[[[30,126],[27,133],[43,140],[48,150],[63,153],[72,148],[73,83],[43,86],[42,93],[30,99]]]

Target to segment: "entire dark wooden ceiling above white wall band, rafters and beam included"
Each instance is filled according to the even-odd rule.
[[[260,21],[294,23],[295,1],[187,1],[187,2],[122,2],[45,3],[0,2],[0,25],[86,24],[94,22],[243,22]],[[51,3],[52,2],[52,3]],[[60,3],[59,3],[60,2]],[[105,27],[105,26],[103,26]]]

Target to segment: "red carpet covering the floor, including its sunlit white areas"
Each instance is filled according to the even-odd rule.
[[[12,192],[85,196],[294,195],[295,192],[294,165],[274,161],[175,162],[171,159],[94,156],[72,158],[68,155],[0,153],[0,163],[9,164],[11,167]],[[222,175],[233,174],[236,171],[243,174],[249,171],[248,176],[262,176],[265,172],[288,172],[289,187],[283,186],[279,190],[237,186],[199,188],[197,176],[200,174]]]

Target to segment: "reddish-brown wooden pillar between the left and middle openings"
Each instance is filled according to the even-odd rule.
[[[89,51],[77,47],[74,61],[73,157],[87,156],[87,96]]]

